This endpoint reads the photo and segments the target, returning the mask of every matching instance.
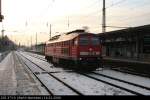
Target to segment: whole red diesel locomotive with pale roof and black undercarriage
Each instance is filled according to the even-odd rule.
[[[55,64],[77,69],[96,69],[102,61],[102,46],[96,34],[75,30],[58,35],[46,43],[45,57]]]

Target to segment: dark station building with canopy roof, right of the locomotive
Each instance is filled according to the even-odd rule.
[[[98,34],[103,57],[150,61],[150,25]]]

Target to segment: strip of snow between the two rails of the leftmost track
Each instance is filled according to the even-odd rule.
[[[40,81],[50,95],[82,95],[77,90],[73,89],[49,73],[45,73],[45,70],[29,59],[25,58],[23,55],[17,55],[22,59],[24,64],[30,69],[30,71]]]

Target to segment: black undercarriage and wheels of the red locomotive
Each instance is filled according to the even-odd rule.
[[[82,70],[82,71],[92,71],[102,66],[101,58],[80,58],[78,60],[72,59],[61,59],[53,57],[45,57],[49,62],[53,63],[56,67],[64,67],[68,69]]]

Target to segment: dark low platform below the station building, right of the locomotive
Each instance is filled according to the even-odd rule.
[[[129,70],[136,73],[142,73],[143,76],[150,75],[150,59],[131,59],[103,57],[103,65],[108,68]]]

